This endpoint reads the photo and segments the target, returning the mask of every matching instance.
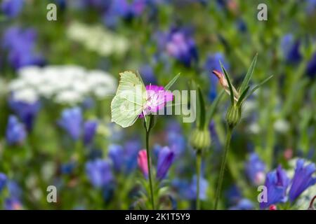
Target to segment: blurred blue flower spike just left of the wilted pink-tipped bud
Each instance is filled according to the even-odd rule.
[[[220,62],[223,64],[226,70],[230,68],[228,62],[226,61],[224,55],[221,52],[216,52],[214,54],[209,54],[206,57],[206,61],[204,64],[204,71],[206,71],[207,74],[211,73],[213,70],[221,71]],[[218,83],[218,78],[216,76],[209,76],[211,86],[209,87],[209,99],[213,101],[216,96],[216,87]]]

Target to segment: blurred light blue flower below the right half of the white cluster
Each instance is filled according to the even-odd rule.
[[[70,134],[70,137],[72,137],[74,141],[77,141],[81,136],[82,122],[81,109],[74,107],[62,111],[62,117],[58,121],[58,124]]]

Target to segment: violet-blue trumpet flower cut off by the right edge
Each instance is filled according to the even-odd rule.
[[[295,174],[289,190],[289,200],[291,202],[294,202],[304,190],[316,183],[316,178],[312,177],[312,174],[316,171],[315,164],[310,163],[304,167],[304,163],[305,160],[303,159],[299,159],[296,162]]]

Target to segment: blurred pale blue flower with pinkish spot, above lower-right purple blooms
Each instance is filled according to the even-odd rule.
[[[259,186],[265,181],[265,163],[258,157],[257,153],[250,154],[245,169],[251,183]]]

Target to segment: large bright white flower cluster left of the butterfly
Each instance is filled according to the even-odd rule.
[[[58,104],[78,104],[86,97],[102,99],[115,93],[117,80],[100,70],[81,66],[26,66],[8,85],[13,100],[34,103],[41,97]]]

